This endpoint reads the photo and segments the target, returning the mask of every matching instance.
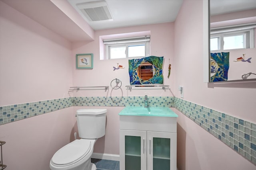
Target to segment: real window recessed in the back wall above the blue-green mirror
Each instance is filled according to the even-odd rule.
[[[106,59],[146,57],[150,53],[150,35],[122,39],[103,40],[106,45]]]

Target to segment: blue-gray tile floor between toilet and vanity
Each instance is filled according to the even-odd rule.
[[[97,170],[120,170],[119,161],[91,158],[92,163],[96,165]]]

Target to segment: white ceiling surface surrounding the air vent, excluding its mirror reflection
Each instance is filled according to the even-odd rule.
[[[183,0],[106,0],[113,21],[88,21],[76,4],[97,0],[68,0],[94,29],[109,29],[175,21]]]

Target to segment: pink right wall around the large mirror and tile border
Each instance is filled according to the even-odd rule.
[[[175,21],[174,94],[184,100],[256,122],[256,82],[203,83],[202,0],[184,0]],[[183,68],[183,69],[182,69]],[[175,109],[179,170],[254,170],[255,166]]]

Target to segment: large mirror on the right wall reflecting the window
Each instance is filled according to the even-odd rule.
[[[256,79],[256,0],[209,0],[209,82]]]

